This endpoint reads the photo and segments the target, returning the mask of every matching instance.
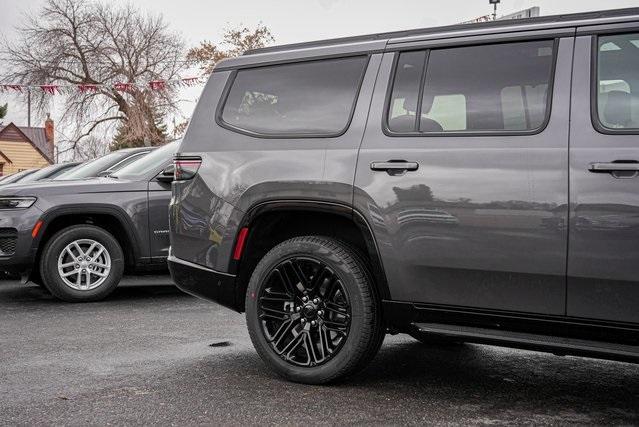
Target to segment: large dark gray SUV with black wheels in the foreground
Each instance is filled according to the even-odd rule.
[[[639,9],[261,49],[175,159],[178,286],[284,377],[386,332],[639,356]]]

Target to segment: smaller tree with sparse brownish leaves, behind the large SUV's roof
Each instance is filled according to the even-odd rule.
[[[189,49],[186,58],[197,64],[204,73],[210,74],[221,60],[240,56],[247,50],[258,49],[274,41],[271,30],[263,24],[254,29],[227,28],[222,35],[222,43],[216,45],[204,40],[198,47]]]

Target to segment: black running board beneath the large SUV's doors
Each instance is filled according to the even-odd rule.
[[[639,346],[439,323],[412,323],[416,332],[460,341],[639,363]]]

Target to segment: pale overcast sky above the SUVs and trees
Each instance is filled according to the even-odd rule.
[[[20,23],[23,13],[37,11],[43,1],[0,0],[0,36],[13,38],[13,28]],[[488,0],[135,0],[132,3],[140,9],[164,15],[189,45],[204,39],[219,41],[223,28],[240,23],[254,26],[262,22],[271,29],[276,43],[295,43],[454,24],[492,12]],[[542,15],[551,15],[634,7],[639,6],[639,0],[501,0],[499,14],[532,6],[539,6]],[[197,90],[188,91],[183,96],[195,98]],[[0,94],[0,104],[7,101],[11,105],[5,122],[26,124],[22,103]],[[190,114],[192,107],[189,105],[192,104],[184,104],[186,116]],[[52,105],[52,110],[55,111],[55,105]]]

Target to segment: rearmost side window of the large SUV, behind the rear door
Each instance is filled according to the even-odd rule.
[[[346,130],[368,57],[237,71],[221,119],[264,136],[335,136]]]

